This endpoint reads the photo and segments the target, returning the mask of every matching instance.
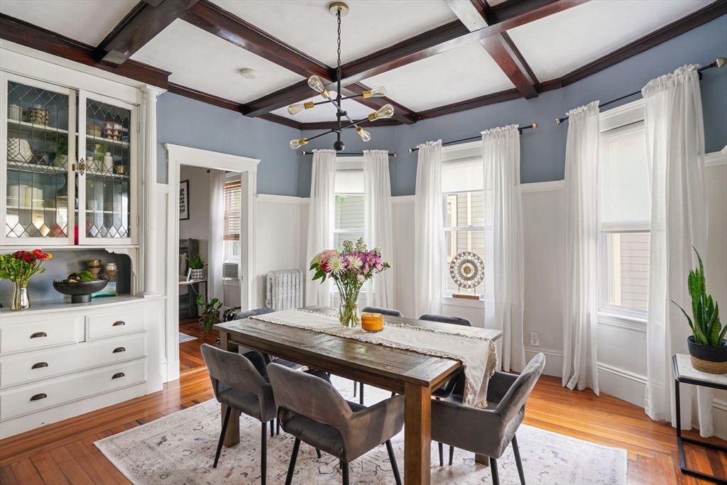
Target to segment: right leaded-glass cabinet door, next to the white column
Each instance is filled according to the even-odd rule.
[[[136,244],[137,107],[81,91],[79,113],[79,244]]]

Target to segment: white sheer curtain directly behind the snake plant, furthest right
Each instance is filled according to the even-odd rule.
[[[687,276],[696,265],[694,246],[707,252],[704,199],[704,121],[698,65],[650,81],[646,100],[646,147],[651,171],[651,250],[648,277],[646,414],[676,425],[671,358],[687,353],[691,330],[672,303],[691,308]],[[681,386],[681,425],[699,425],[712,436],[712,390]],[[694,412],[696,410],[696,412]],[[696,418],[694,419],[694,415]]]

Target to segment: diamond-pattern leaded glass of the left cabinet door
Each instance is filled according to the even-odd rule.
[[[68,237],[68,156],[68,96],[8,81],[8,237]]]

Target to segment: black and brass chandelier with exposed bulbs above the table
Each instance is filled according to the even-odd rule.
[[[308,86],[310,86],[310,89],[313,89],[313,91],[324,97],[325,101],[320,101],[318,103],[308,101],[308,103],[290,105],[288,106],[288,113],[294,115],[300,113],[301,111],[315,108],[317,105],[332,103],[337,108],[337,127],[330,129],[327,132],[321,133],[320,135],[316,135],[315,137],[301,138],[300,140],[291,140],[290,148],[292,148],[293,150],[307,144],[310,140],[315,140],[316,138],[328,135],[329,133],[335,133],[337,135],[337,140],[333,144],[333,148],[335,151],[343,151],[345,145],[341,141],[342,130],[346,128],[356,127],[356,132],[358,132],[358,135],[361,136],[361,140],[367,142],[371,140],[371,134],[359,125],[361,123],[364,123],[365,121],[375,121],[377,119],[390,118],[394,114],[394,107],[392,105],[386,104],[379,108],[378,111],[374,111],[374,113],[371,113],[366,118],[354,121],[353,119],[351,119],[350,116],[348,116],[348,113],[342,110],[342,100],[350,100],[354,97],[382,97],[386,95],[386,88],[383,86],[379,86],[376,89],[371,89],[371,91],[364,91],[360,95],[345,97],[341,96],[341,17],[345,17],[346,15],[348,15],[348,5],[346,5],[342,1],[334,1],[328,6],[328,9],[331,15],[334,15],[338,21],[338,65],[336,68],[336,99],[333,99],[331,97],[331,93],[328,92],[328,89],[326,89],[324,84],[321,82],[321,78],[319,78],[318,76],[310,76],[308,78]],[[341,125],[342,118],[348,119],[348,124]]]

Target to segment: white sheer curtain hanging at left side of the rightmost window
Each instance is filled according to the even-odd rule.
[[[568,117],[563,385],[598,395],[598,101]]]

